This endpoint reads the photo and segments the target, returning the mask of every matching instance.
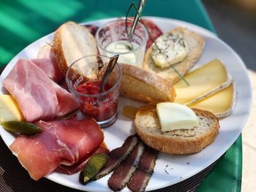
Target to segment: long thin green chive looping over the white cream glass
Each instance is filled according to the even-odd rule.
[[[154,37],[151,35],[150,31],[148,30],[148,27],[145,25],[145,23],[143,22],[143,19],[141,18],[141,14],[140,14],[140,13],[142,12],[143,7],[144,7],[145,4],[146,4],[146,1],[143,2],[143,3],[144,3],[144,4],[141,4],[141,1],[140,1],[140,3],[139,3],[140,8],[138,9],[138,7],[136,7],[136,5],[135,5],[135,2],[133,1],[133,2],[130,4],[129,9],[128,9],[128,11],[127,11],[127,15],[126,15],[126,18],[125,18],[125,19],[126,19],[126,30],[127,30],[127,35],[129,36],[130,43],[131,43],[131,45],[132,45],[132,36],[130,36],[130,35],[131,35],[131,34],[133,35],[133,33],[131,33],[131,32],[129,33],[129,31],[128,31],[127,20],[128,20],[129,12],[131,11],[131,9],[132,9],[132,7],[133,7],[133,8],[135,8],[135,11],[136,11],[135,17],[138,16],[138,17],[137,17],[138,20],[140,19],[141,23],[142,23],[143,26],[146,28],[146,31],[148,32],[148,35],[149,35],[150,39],[153,41],[154,45],[156,45],[157,49],[159,50],[159,53],[161,53],[162,55],[165,55],[165,53],[162,53],[162,50],[158,47],[157,42],[155,41]],[[143,6],[142,6],[142,5],[143,5]],[[135,23],[136,25],[137,25],[137,23],[138,23],[138,20],[136,20],[136,23],[135,23],[135,20],[134,20],[134,23]],[[136,25],[135,25],[135,27],[136,27]],[[133,25],[132,25],[132,26],[133,26]],[[133,49],[133,47],[132,47],[132,49]],[[165,55],[165,61],[167,61],[167,55]],[[183,81],[189,86],[189,82],[187,82],[187,80],[184,78],[184,76],[183,76],[182,74],[180,74],[180,73],[178,72],[178,70],[177,70],[172,64],[170,64],[169,61],[167,61],[167,64],[169,64],[170,67],[174,70],[174,72],[176,72],[176,73],[178,74],[178,77],[180,77],[181,80],[183,80]]]

